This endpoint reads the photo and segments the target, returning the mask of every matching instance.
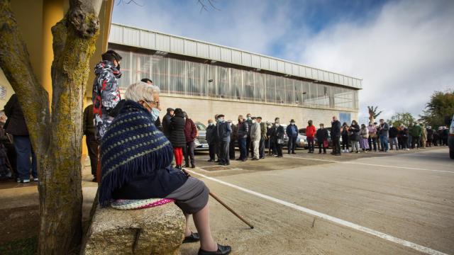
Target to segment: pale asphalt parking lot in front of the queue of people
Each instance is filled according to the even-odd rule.
[[[212,232],[232,254],[454,254],[448,149],[306,152],[229,167],[196,156],[193,176],[255,226],[210,199]]]

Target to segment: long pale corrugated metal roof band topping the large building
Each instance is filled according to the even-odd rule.
[[[111,24],[109,42],[199,57],[362,89],[362,79],[177,35]]]

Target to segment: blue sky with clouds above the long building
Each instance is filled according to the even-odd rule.
[[[454,89],[454,1],[135,1],[112,22],[363,79],[360,118],[367,105],[418,115],[432,91]]]

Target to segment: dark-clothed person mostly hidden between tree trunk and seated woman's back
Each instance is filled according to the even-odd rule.
[[[93,181],[96,181],[96,167],[98,166],[98,147],[93,125],[93,105],[89,105],[84,110],[84,120],[82,121],[85,142],[87,143],[90,166],[92,167]]]

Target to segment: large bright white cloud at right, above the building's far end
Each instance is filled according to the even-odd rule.
[[[370,21],[301,39],[300,61],[364,79],[362,116],[370,105],[384,118],[418,115],[433,91],[454,88],[453,24],[453,1],[391,2]]]

